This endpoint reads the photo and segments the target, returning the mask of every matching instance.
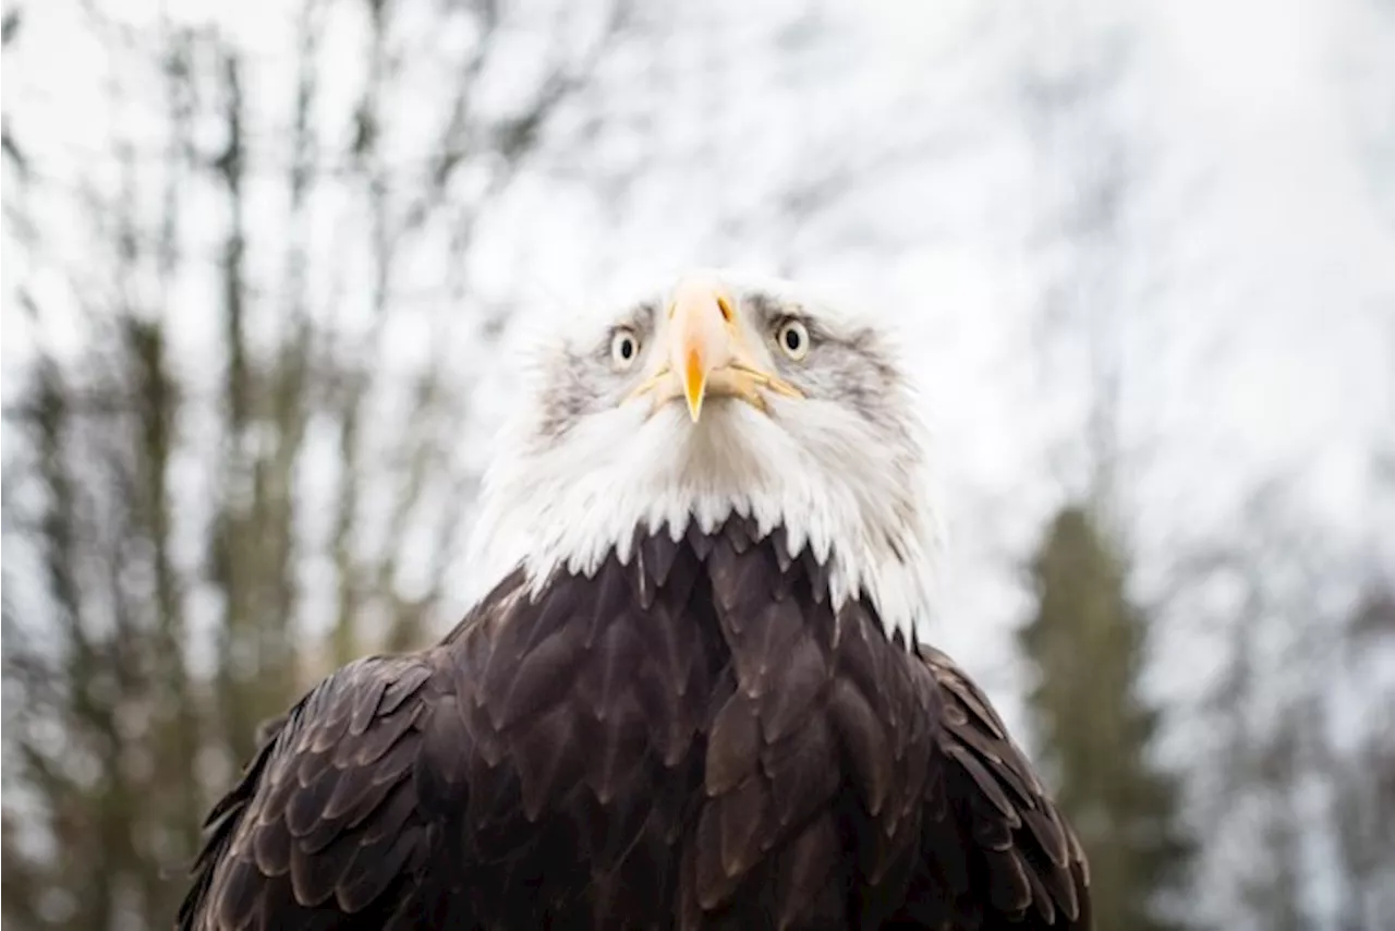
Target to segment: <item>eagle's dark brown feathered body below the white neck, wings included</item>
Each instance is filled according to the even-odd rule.
[[[983,694],[741,519],[505,579],[345,667],[216,807],[181,931],[1088,928]]]

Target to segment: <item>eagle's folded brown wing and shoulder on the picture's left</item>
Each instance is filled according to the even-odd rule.
[[[265,730],[208,817],[180,931],[417,920],[469,734],[442,648],[356,660]]]

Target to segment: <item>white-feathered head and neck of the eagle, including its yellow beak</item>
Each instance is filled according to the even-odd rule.
[[[940,539],[922,423],[887,332],[783,281],[693,272],[543,341],[485,472],[481,586],[631,558],[727,518],[783,529],[889,630],[929,609]],[[483,595],[483,589],[477,592]]]

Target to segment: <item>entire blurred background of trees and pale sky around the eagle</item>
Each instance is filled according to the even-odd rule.
[[[731,262],[905,334],[1099,931],[1395,927],[1391,0],[0,8],[0,930],[169,927],[519,346]]]

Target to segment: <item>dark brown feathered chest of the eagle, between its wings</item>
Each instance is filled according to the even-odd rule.
[[[798,892],[840,927],[865,840],[901,856],[877,815],[918,789],[907,750],[929,724],[897,648],[864,607],[836,613],[820,572],[742,525],[658,536],[480,625],[465,703],[466,856],[494,874],[480,907],[671,927]]]

